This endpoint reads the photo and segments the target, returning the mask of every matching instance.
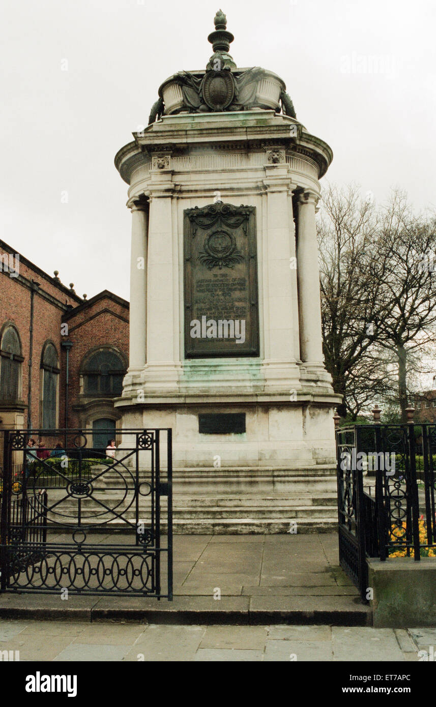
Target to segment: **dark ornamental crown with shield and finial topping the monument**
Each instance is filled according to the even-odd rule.
[[[295,118],[293,102],[283,79],[260,66],[237,69],[229,54],[234,37],[227,30],[222,10],[214,18],[215,30],[208,36],[213,54],[205,71],[178,71],[159,88],[148,124],[161,115],[241,110],[275,110]]]

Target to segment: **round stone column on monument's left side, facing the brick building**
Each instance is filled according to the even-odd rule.
[[[139,199],[128,205],[131,209],[129,372],[132,372],[142,370],[147,360],[148,202]]]

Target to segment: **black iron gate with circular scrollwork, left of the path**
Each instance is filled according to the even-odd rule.
[[[2,591],[172,600],[172,431],[117,437],[112,458],[92,430],[4,433]]]

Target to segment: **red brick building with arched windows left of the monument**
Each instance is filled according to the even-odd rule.
[[[81,298],[0,240],[0,428],[93,428],[105,446],[128,356],[126,300]]]

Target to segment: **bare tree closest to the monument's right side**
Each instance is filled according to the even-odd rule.
[[[318,238],[324,359],[334,390],[343,398],[338,413],[346,416],[348,410],[357,416],[374,395],[367,359],[377,337],[377,221],[370,201],[360,199],[357,185],[329,185],[322,206]],[[373,383],[377,389],[378,382]]]

